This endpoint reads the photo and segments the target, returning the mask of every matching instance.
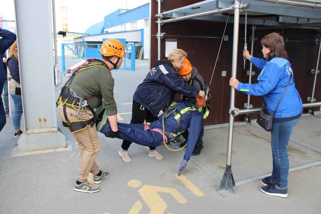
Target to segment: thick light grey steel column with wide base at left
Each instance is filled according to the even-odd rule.
[[[65,136],[57,127],[51,1],[14,2],[25,122],[25,132],[18,140],[19,151],[66,147]],[[30,50],[38,54],[30,54]]]

